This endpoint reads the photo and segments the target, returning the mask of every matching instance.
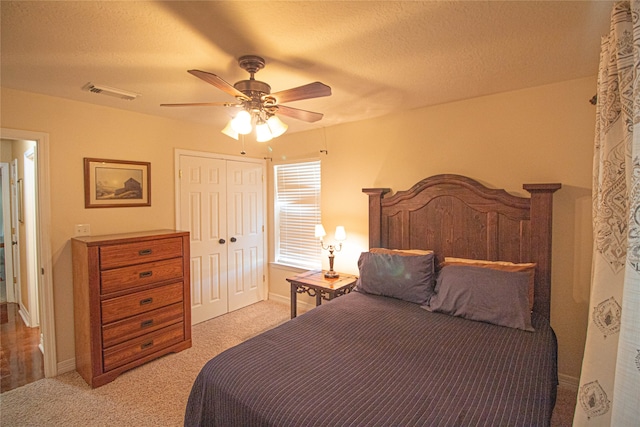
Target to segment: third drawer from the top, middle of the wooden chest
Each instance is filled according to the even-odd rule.
[[[177,282],[102,301],[102,323],[115,322],[182,302],[184,283]]]

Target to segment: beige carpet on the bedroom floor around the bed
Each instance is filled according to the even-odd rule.
[[[192,328],[193,347],[125,372],[91,389],[76,372],[0,395],[0,425],[181,426],[191,385],[225,349],[289,319],[289,305],[263,301]],[[552,426],[571,426],[575,393],[559,391]]]

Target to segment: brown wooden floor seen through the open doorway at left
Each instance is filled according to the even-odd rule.
[[[40,328],[27,328],[18,304],[0,304],[0,393],[44,378]]]

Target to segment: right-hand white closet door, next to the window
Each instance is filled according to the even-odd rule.
[[[227,161],[229,311],[264,299],[262,166]]]

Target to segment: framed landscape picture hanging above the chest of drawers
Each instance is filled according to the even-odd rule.
[[[84,207],[151,206],[151,163],[84,159]]]

